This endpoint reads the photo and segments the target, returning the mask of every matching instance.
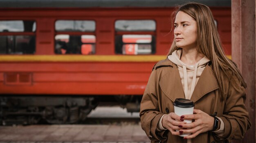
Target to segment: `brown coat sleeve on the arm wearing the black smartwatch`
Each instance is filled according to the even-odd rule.
[[[238,80],[236,82],[239,83]],[[241,91],[237,91],[229,83],[224,112],[222,117],[220,117],[224,121],[225,131],[221,137],[215,137],[217,140],[228,140],[231,142],[232,139],[243,139],[245,132],[252,126],[245,107],[245,88],[240,86],[240,89]]]

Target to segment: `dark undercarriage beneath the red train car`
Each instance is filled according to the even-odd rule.
[[[98,105],[139,112],[141,96],[0,96],[0,124],[76,124]]]

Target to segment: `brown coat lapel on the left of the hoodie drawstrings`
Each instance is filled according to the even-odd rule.
[[[176,98],[185,98],[177,65],[173,65],[171,71],[161,78],[159,85],[164,94],[166,94],[172,102],[174,102]]]

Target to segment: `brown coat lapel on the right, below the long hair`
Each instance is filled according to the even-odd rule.
[[[195,89],[191,96],[191,100],[193,102],[196,102],[207,93],[214,91],[218,88],[219,88],[219,85],[216,80],[216,77],[213,74],[213,70],[211,69],[211,67],[209,67],[209,65],[207,65],[204,68],[204,71],[202,72],[198,80],[198,83],[195,86]]]

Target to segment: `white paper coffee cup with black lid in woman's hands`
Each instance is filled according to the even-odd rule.
[[[184,99],[184,98],[175,99],[175,102],[173,102],[173,105],[174,105],[174,113],[179,116],[193,114],[194,106],[195,106],[193,101]],[[184,121],[186,123],[191,123],[192,119],[191,120],[184,119]],[[176,130],[176,131],[179,132],[180,130]],[[180,136],[185,137],[185,136],[188,136],[189,134],[191,133],[184,133],[184,134],[181,134]]]

